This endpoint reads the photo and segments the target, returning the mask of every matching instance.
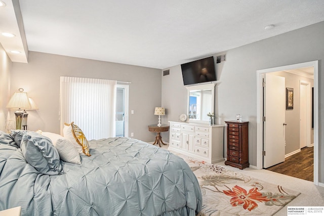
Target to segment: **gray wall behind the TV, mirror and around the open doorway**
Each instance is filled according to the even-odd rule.
[[[319,182],[324,183],[324,22],[297,29],[228,50],[226,62],[216,65],[215,112],[218,123],[234,119],[235,114],[249,124],[249,161],[257,165],[257,75],[256,71],[278,66],[319,60]],[[220,55],[217,53],[214,55]],[[166,120],[178,120],[186,112],[186,90],[180,65],[170,68],[162,78],[162,106],[170,110]],[[164,69],[165,70],[165,69]]]

